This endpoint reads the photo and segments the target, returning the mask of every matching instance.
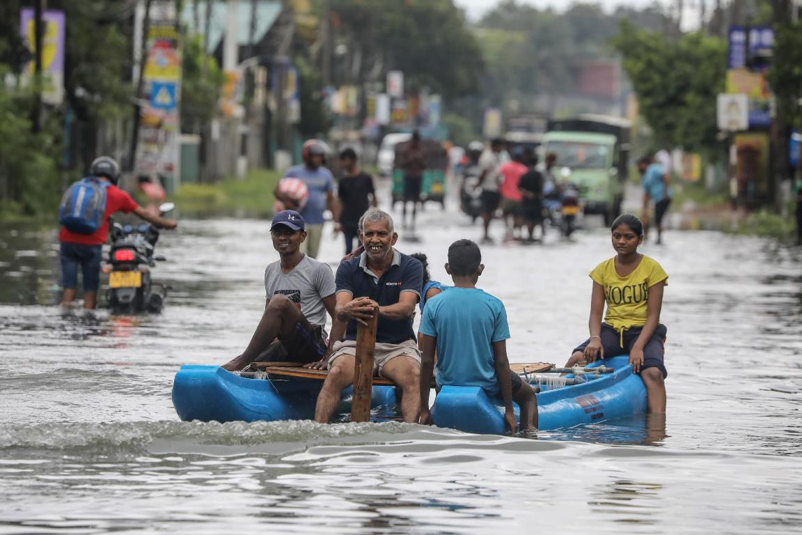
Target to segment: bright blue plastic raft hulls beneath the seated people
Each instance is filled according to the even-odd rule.
[[[538,428],[571,428],[646,412],[646,387],[632,373],[626,355],[589,367],[614,368],[610,374],[584,375],[587,382],[545,387],[537,394]],[[568,376],[573,377],[572,375]],[[180,419],[218,422],[312,419],[323,382],[319,379],[245,379],[217,366],[182,366],[172,386]],[[373,387],[371,414],[395,415],[395,387]],[[480,387],[443,387],[432,416],[442,428],[472,433],[504,433],[504,407]],[[515,407],[516,414],[518,407]],[[350,389],[340,411],[350,411]]]

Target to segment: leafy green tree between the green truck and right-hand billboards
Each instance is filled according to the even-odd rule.
[[[702,33],[667,39],[624,21],[614,46],[624,58],[641,114],[655,140],[714,152],[715,101],[725,89],[727,43]]]

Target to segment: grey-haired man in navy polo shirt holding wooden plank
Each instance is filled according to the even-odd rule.
[[[365,213],[359,237],[365,252],[342,262],[337,270],[335,314],[348,326],[345,338],[331,348],[329,375],[318,395],[314,419],[330,421],[342,390],[354,383],[357,323],[365,324],[378,308],[375,371],[402,388],[403,419],[414,423],[420,410],[420,354],[412,315],[423,286],[423,265],[393,248],[399,235],[382,210]]]

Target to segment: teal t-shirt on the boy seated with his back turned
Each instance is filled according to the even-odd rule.
[[[476,288],[449,288],[427,302],[420,333],[437,338],[438,386],[500,392],[492,344],[509,338],[509,326],[499,299]]]

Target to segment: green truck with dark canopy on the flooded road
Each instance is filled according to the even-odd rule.
[[[569,169],[567,180],[577,185],[585,213],[601,214],[605,225],[621,215],[630,128],[629,121],[618,117],[581,115],[549,120],[543,136],[541,155],[557,155],[555,165]]]

